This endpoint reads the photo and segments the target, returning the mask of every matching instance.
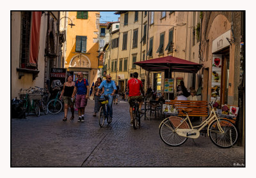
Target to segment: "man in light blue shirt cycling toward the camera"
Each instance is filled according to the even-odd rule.
[[[112,108],[112,103],[113,103],[113,98],[114,98],[114,94],[116,91],[116,84],[115,81],[111,80],[111,76],[110,75],[106,75],[106,80],[104,80],[103,82],[101,82],[100,86],[98,87],[98,91],[96,93],[96,95],[99,95],[99,91],[100,89],[102,89],[102,87],[104,87],[104,95],[108,94],[108,107],[107,107],[107,115],[109,117],[109,121],[112,121],[112,117],[113,117],[113,108]]]

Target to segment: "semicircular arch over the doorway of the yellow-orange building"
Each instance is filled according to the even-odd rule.
[[[70,68],[91,68],[91,61],[87,56],[83,54],[77,54],[76,56],[72,57],[70,63]]]

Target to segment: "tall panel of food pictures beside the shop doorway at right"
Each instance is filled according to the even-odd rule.
[[[221,55],[212,55],[212,73],[211,73],[211,101],[220,102],[220,91],[221,91]]]

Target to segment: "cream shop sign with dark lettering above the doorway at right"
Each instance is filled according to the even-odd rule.
[[[228,47],[230,44],[228,43],[228,39],[230,39],[230,30],[226,33],[221,34],[218,38],[212,41],[212,53],[221,50],[222,48]]]

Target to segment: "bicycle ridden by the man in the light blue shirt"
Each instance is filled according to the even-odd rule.
[[[107,115],[107,111],[106,111],[106,105],[108,105],[108,94],[107,95],[101,95],[102,97],[100,97],[100,110],[99,110],[99,125],[100,128],[103,127],[104,125],[104,121],[105,119],[107,119],[108,124],[111,123],[111,121],[109,120],[109,117]]]

